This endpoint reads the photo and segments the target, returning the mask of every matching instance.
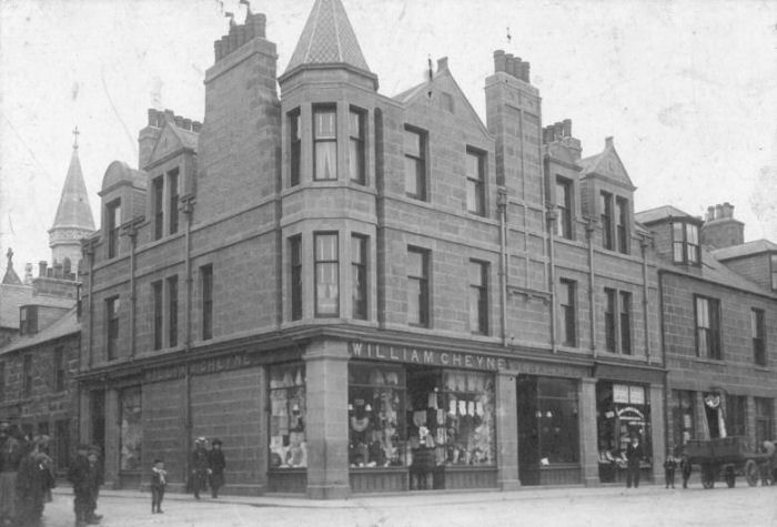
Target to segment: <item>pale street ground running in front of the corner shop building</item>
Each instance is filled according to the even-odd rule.
[[[164,514],[151,514],[148,493],[102,489],[98,513],[104,527],[777,527],[777,486],[524,487],[505,493],[428,490],[335,500],[223,496],[198,501],[191,495],[168,494],[162,508]],[[70,489],[57,488],[46,507],[44,526],[72,525]]]

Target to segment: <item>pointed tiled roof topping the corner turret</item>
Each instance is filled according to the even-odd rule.
[[[343,64],[375,77],[364,60],[341,0],[315,0],[283,77],[312,64]]]

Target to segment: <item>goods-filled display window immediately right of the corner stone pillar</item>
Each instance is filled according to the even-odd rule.
[[[349,463],[353,468],[401,467],[405,376],[398,367],[349,367]]]

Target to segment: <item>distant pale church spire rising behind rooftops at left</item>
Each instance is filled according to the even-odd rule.
[[[78,155],[80,133],[77,126],[73,130],[73,153],[70,158],[68,175],[64,179],[54,224],[49,230],[49,246],[53,262],[64,263],[67,259],[73,266],[73,271],[78,261],[81,260],[80,240],[94,231],[94,216],[89,206],[89,195]]]

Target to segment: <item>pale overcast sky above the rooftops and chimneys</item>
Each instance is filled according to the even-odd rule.
[[[380,92],[450,69],[485,121],[493,51],[531,62],[543,123],[606,136],[637,211],[729,202],[745,239],[777,241],[777,0],[342,0]],[[252,0],[285,71],[314,0]],[[202,121],[213,41],[238,0],[0,0],[0,270],[49,261],[78,125],[99,226],[102,176],[138,165],[147,109]],[[509,34],[509,39],[507,36]],[[36,265],[37,268],[37,265]],[[37,271],[36,271],[37,273]]]

